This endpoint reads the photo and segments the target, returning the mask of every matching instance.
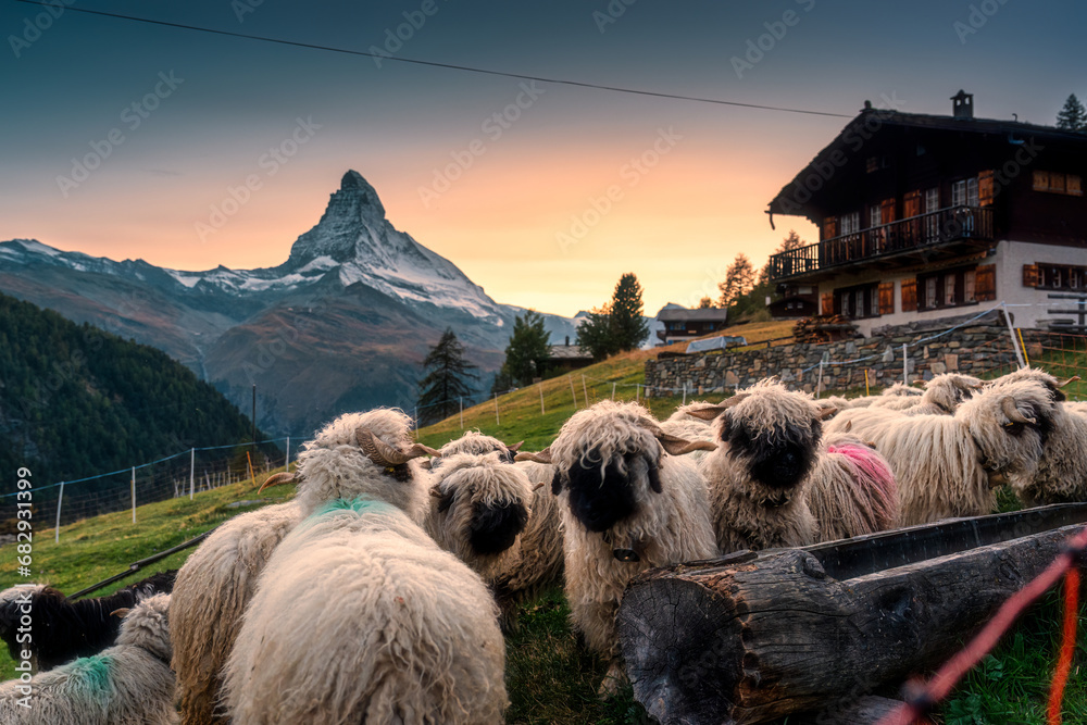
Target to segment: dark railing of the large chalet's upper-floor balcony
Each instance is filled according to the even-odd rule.
[[[772,254],[771,280],[976,239],[991,241],[991,207],[949,207]]]

